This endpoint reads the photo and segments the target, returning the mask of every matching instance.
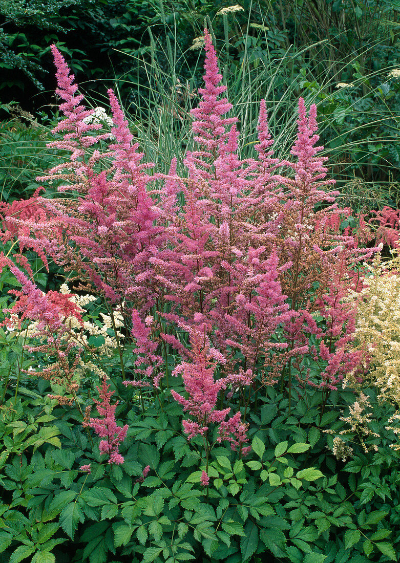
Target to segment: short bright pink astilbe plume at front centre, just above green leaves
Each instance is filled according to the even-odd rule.
[[[210,346],[206,332],[201,329],[190,329],[190,345],[188,351],[190,361],[183,361],[175,368],[173,375],[181,374],[187,398],[174,390],[171,394],[182,406],[184,412],[191,415],[192,419],[185,419],[183,427],[189,440],[197,435],[206,435],[210,425],[219,428],[217,441],[228,440],[233,450],[248,453],[249,446],[243,448],[248,441],[246,436],[247,425],[241,422],[241,413],[238,411],[225,421],[230,413],[230,407],[217,409],[216,403],[219,392],[229,384],[229,378],[214,378],[217,364],[224,364],[224,356]],[[193,420],[194,419],[194,420]]]

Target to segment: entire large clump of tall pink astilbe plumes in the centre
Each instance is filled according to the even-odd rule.
[[[279,160],[261,101],[255,158],[241,160],[237,119],[226,117],[232,105],[220,97],[226,87],[207,30],[205,49],[205,87],[192,110],[198,147],[184,158],[188,177],[180,177],[176,159],[168,175],[150,174],[154,165],[143,162],[111,90],[114,142],[100,150],[100,124],[88,123],[91,113],[74,77],[52,47],[65,119],[54,129],[64,137],[49,146],[71,154],[41,180],[64,182],[59,191],[73,196],[43,199],[51,218],[31,225],[21,240],[70,272],[78,289],[103,298],[126,379],[113,314],[118,306],[124,336],[136,343],[135,382],[127,385],[157,388],[165,374],[168,386],[175,348],[188,395],[175,398],[199,428],[207,423],[190,406],[197,379],[185,363],[183,333],[194,346],[196,331],[206,327],[207,349],[219,358],[210,389],[216,385],[221,396],[220,408],[211,401],[210,412],[233,409],[229,421],[217,422],[220,437],[236,447],[246,441],[241,425],[263,387],[280,379],[291,399],[294,374],[305,393],[321,387],[326,399],[356,369],[361,358],[348,351],[355,310],[346,299],[359,262],[372,250],[357,249],[354,236],[334,225],[343,210],[336,193],[326,191],[333,181],[319,154],[316,107],[307,113],[299,100],[294,159]],[[318,374],[303,364],[305,354],[319,363]]]

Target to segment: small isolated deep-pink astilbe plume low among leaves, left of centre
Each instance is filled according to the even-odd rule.
[[[91,418],[88,426],[93,428],[97,436],[104,438],[100,441],[99,450],[102,455],[108,455],[108,463],[121,465],[124,462],[123,456],[119,453],[119,445],[125,440],[128,431],[128,425],[117,426],[115,421],[115,409],[118,401],[114,405],[110,404],[110,399],[114,395],[114,391],[109,391],[110,386],[107,385],[106,379],[103,379],[103,385],[96,387],[99,391],[99,399],[94,399],[97,412],[104,418]]]

